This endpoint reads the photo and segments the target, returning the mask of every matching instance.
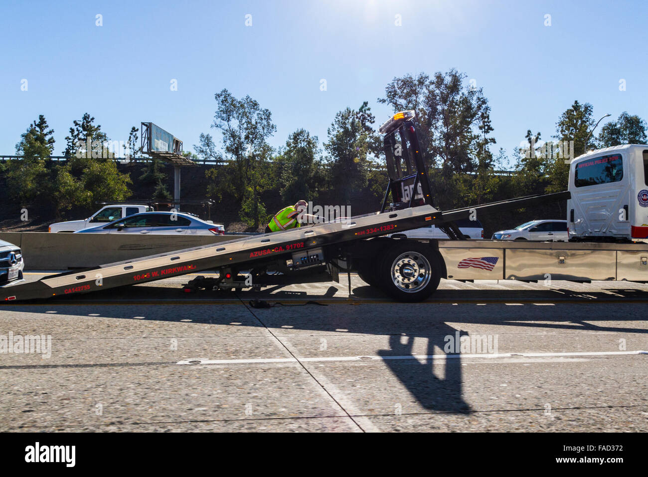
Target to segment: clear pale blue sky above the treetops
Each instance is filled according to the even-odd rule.
[[[623,111],[648,119],[647,5],[3,0],[0,154],[14,153],[39,114],[54,128],[61,154],[73,119],[84,112],[113,140],[125,141],[132,125],[152,121],[189,150],[201,132],[219,138],[210,125],[214,93],[223,88],[272,111],[273,146],[302,127],[321,143],[346,106],[369,101],[382,123],[391,111],[376,99],[394,77],[452,67],[483,88],[497,140],[492,150],[511,154],[527,128],[543,139],[555,134],[575,99],[592,103],[596,119]],[[544,25],[546,14],[551,26]],[[170,90],[172,79],[178,91]]]

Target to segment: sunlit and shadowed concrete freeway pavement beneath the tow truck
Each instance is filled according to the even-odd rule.
[[[186,281],[0,306],[0,430],[648,430],[644,284]]]

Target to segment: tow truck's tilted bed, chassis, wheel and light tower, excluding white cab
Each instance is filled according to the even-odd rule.
[[[0,301],[70,296],[204,270],[217,270],[218,278],[199,276],[185,291],[339,282],[340,272],[351,271],[404,302],[426,299],[441,278],[648,281],[647,243],[464,239],[454,224],[458,219],[562,201],[570,199],[570,191],[438,210],[414,119],[413,111],[399,112],[380,127],[389,175],[380,212],[48,276],[0,288]],[[432,224],[449,239],[399,237]]]

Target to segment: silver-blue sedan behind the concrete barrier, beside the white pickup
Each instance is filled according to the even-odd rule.
[[[225,227],[181,212],[141,212],[75,234],[224,235]]]

